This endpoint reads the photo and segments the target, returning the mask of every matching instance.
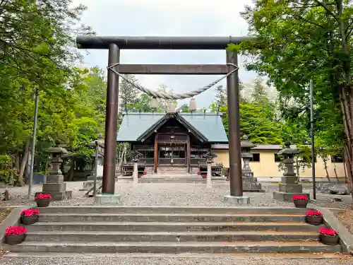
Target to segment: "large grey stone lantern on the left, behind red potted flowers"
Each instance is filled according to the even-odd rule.
[[[62,156],[67,155],[68,151],[61,147],[48,148],[46,153],[52,154],[49,175],[47,182],[43,184],[42,192],[36,192],[35,196],[40,193],[50,194],[53,201],[62,201],[64,199],[71,199],[72,191],[66,190],[66,182],[64,182],[64,175],[61,172],[61,164],[63,163]]]

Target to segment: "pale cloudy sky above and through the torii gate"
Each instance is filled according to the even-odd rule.
[[[82,23],[97,35],[115,36],[245,36],[246,22],[239,12],[251,0],[73,0],[88,10]],[[85,66],[107,68],[107,50],[83,51]],[[121,64],[225,64],[225,51],[122,50]],[[246,71],[239,57],[239,78],[247,83],[256,73]],[[174,93],[202,88],[220,76],[138,75],[152,90],[165,84]],[[220,83],[225,86],[225,81]],[[198,108],[213,102],[215,89],[196,96]],[[189,100],[179,100],[178,105]]]

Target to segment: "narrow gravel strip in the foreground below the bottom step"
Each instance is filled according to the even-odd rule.
[[[0,258],[1,265],[352,265],[353,259],[179,259],[179,258],[131,258],[131,257],[94,257],[94,258]]]

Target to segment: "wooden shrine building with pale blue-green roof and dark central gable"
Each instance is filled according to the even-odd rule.
[[[154,172],[157,172],[157,167],[187,167],[190,171],[191,167],[206,162],[204,155],[216,139],[221,140],[217,143],[227,142],[222,119],[218,114],[124,114],[118,141],[124,141],[128,131],[136,131],[136,126],[148,126],[148,129],[141,130],[143,132],[139,136],[139,133],[136,136],[130,134],[128,142],[131,150],[138,151],[142,155],[140,161],[153,167]],[[209,126],[213,130],[208,129]]]

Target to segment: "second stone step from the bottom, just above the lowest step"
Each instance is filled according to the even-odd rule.
[[[318,242],[318,232],[124,232],[124,231],[37,231],[25,241],[47,242]]]

